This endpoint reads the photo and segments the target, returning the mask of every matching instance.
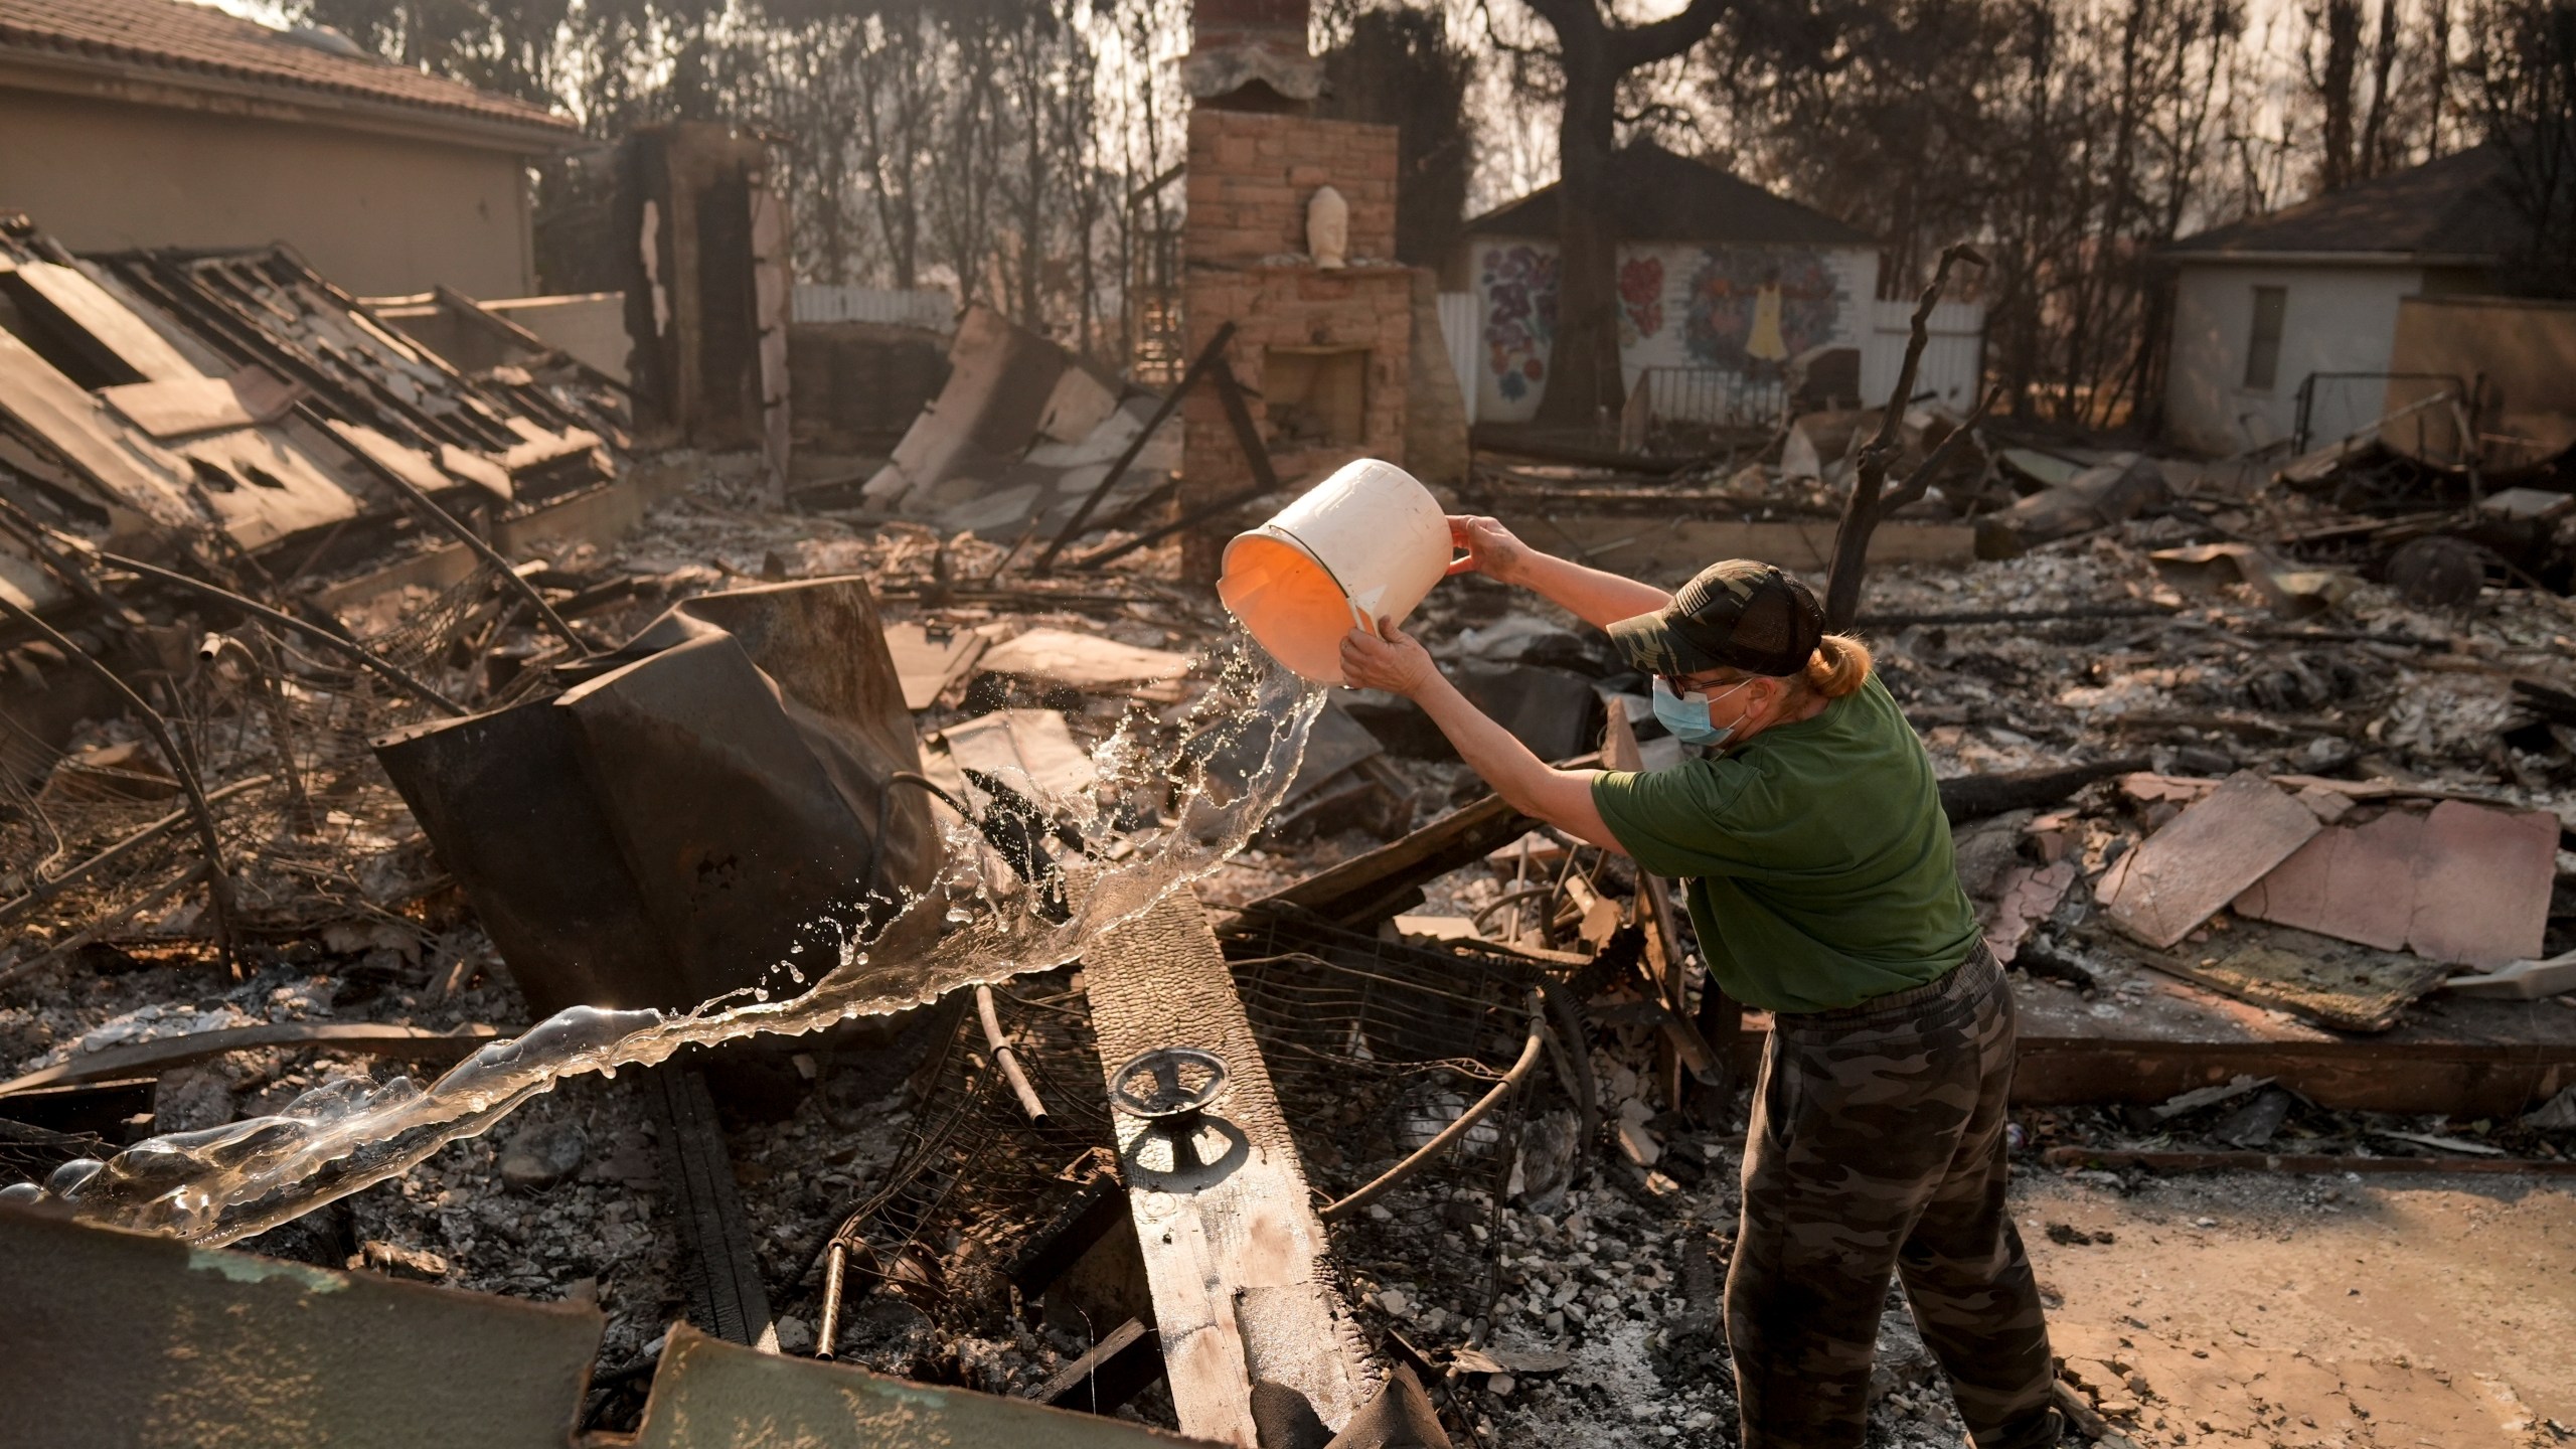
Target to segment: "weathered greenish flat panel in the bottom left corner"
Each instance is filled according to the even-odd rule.
[[[0,1439],[564,1449],[605,1320],[0,1209]]]

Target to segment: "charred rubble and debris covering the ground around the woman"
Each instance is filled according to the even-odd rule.
[[[989,312],[881,467],[781,503],[760,454],[639,443],[585,364],[461,371],[286,253],[70,258],[10,227],[0,258],[10,317],[67,340],[0,353],[44,379],[0,387],[8,1181],[389,1075],[376,1057],[438,1070],[559,1006],[793,995],[783,964],[927,887],[956,841],[997,882],[1126,846],[1061,815],[1103,743],[1170,745],[1206,781],[1121,830],[1203,828],[1260,755],[1190,737],[1229,629],[1188,547],[1100,562],[1167,518],[1164,400]],[[1785,539],[1814,572],[1873,428],[1819,415],[1620,464],[1492,446],[1453,495],[1646,578]],[[1919,462],[1958,428],[1917,410],[1901,446]],[[2110,1217],[2192,1191],[2164,1173],[2576,1171],[2566,474],[2481,492],[2344,451],[2275,477],[1991,420],[1950,456],[1880,529],[1860,629],[2022,1000],[2017,1168],[2079,1204],[2032,1238],[2136,1245]],[[1041,572],[1043,541],[1090,552]],[[2429,541],[2473,578],[2401,562]],[[1646,678],[1522,596],[1461,578],[1412,629],[1548,758],[1687,755]],[[1337,694],[1195,897],[1370,1413],[1412,1434],[1316,1421],[1332,1441],[1718,1441],[1767,1021],[1703,990],[1659,884],[1489,799],[1404,701]],[[520,1312],[569,1354],[526,1395],[559,1410],[554,1441],[734,1441],[672,1436],[665,1405],[891,1379],[969,1418],[1002,1395],[1188,1428],[1103,1091],[1100,969],[569,1078],[240,1243],[260,1258],[222,1276],[484,1294],[433,1305],[469,1318],[559,1305]],[[188,1047],[219,1031],[255,1036]],[[2324,1212],[2362,1189],[2298,1191]],[[165,1248],[116,1274],[175,1274],[144,1261]],[[2378,1392],[2349,1366],[2210,1428],[2166,1338],[2069,1330],[2066,1392],[2105,1436],[2326,1444],[2306,1421],[2331,1403],[2342,1441],[2401,1441],[2347,1413]],[[837,1366],[765,1379],[781,1359]],[[1901,1310],[1873,1390],[1873,1441],[1958,1441]],[[2455,1397],[2532,1428],[2512,1392]]]

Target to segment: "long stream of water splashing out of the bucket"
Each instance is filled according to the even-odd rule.
[[[688,1013],[574,1006],[510,1042],[482,1047],[428,1085],[410,1078],[332,1083],[276,1116],[152,1137],[106,1163],[64,1163],[46,1181],[46,1196],[70,1201],[90,1222],[224,1245],[399,1176],[459,1137],[489,1132],[562,1078],[649,1067],[690,1044],[819,1031],[1074,962],[1100,931],[1133,920],[1242,851],[1303,763],[1306,730],[1324,706],[1324,691],[1242,637],[1218,655],[1213,673],[1206,696],[1185,712],[1182,730],[1247,740],[1255,755],[1249,776],[1211,794],[1193,748],[1164,750],[1139,740],[1139,724],[1123,719],[1092,753],[1103,781],[1097,797],[1041,802],[1061,810],[1097,851],[1095,859],[1069,861],[1072,915],[1061,923],[1028,908],[1036,892],[997,882],[1007,908],[976,918],[951,905],[945,920],[966,928],[927,928],[920,918],[961,890],[989,900],[976,869],[979,843],[971,828],[958,825],[940,879],[920,895],[907,892],[866,941],[842,936],[840,964],[801,995],[770,1000],[760,987],[752,1000],[734,993]],[[1203,748],[1195,753],[1206,758]],[[1170,802],[1167,820],[1188,825],[1121,835],[1118,807],[1100,802],[1131,794]],[[801,972],[791,969],[791,977],[804,985]]]

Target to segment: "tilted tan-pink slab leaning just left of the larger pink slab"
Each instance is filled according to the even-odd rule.
[[[2239,771],[2120,856],[2094,887],[2094,900],[2130,936],[2172,946],[2318,830],[2324,825],[2303,804],[2259,773]]]

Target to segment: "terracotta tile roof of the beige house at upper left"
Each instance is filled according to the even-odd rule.
[[[185,0],[0,0],[0,57],[106,59],[546,131],[574,124],[510,95],[374,57],[335,54]]]

